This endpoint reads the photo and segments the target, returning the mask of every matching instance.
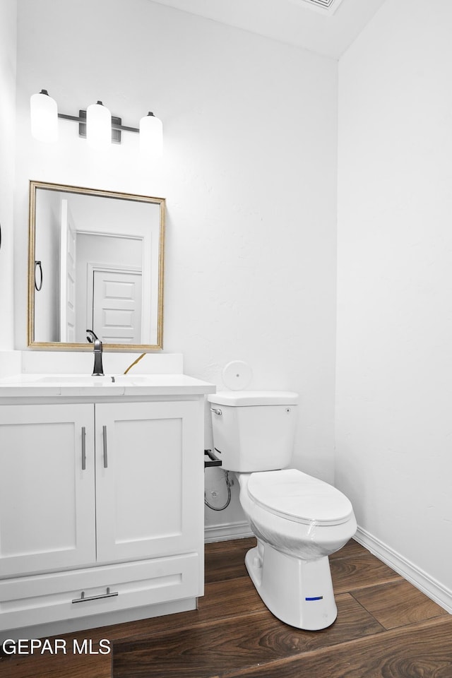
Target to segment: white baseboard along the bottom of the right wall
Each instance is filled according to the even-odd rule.
[[[445,588],[436,579],[405,559],[400,553],[383,544],[379,539],[368,533],[367,530],[358,528],[355,540],[383,561],[383,563],[386,563],[391,569],[403,576],[404,579],[420,589],[422,593],[425,593],[438,605],[444,607],[449,614],[452,614],[452,590]]]

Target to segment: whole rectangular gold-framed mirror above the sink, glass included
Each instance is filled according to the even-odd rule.
[[[28,345],[162,348],[164,233],[164,198],[30,182]]]

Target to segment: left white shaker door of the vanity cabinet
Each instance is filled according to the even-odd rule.
[[[93,420],[93,405],[0,406],[0,576],[95,562]]]

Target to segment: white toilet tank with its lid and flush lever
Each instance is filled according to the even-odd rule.
[[[297,393],[220,391],[208,396],[213,445],[222,468],[253,472],[290,464],[297,422]]]

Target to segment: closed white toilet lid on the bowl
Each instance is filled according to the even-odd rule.
[[[295,468],[251,473],[248,494],[263,509],[307,525],[339,525],[353,513],[345,494]]]

